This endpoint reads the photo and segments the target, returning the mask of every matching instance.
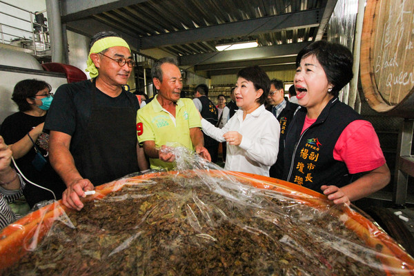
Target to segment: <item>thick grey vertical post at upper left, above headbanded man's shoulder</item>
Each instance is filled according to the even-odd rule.
[[[50,48],[52,50],[52,62],[63,62],[63,35],[61,24],[61,12],[58,0],[46,0],[48,11],[48,27],[50,36]]]

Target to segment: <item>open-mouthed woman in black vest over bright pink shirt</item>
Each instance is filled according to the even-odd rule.
[[[304,108],[286,135],[284,179],[324,193],[335,204],[350,204],[386,186],[390,172],[373,126],[337,98],[353,77],[351,52],[316,41],[299,52],[296,66],[295,89]]]

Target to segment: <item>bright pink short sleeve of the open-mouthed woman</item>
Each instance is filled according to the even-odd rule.
[[[373,126],[364,120],[346,126],[335,144],[333,158],[343,161],[351,174],[374,170],[386,163]]]

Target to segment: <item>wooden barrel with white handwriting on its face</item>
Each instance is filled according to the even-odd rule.
[[[414,0],[368,0],[360,77],[371,108],[414,118]]]

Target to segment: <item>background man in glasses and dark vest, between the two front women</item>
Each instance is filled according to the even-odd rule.
[[[276,163],[270,167],[269,175],[270,177],[282,179],[284,166],[284,140],[290,121],[292,121],[293,116],[295,116],[296,111],[300,106],[285,99],[283,81],[279,79],[272,79],[270,81],[270,91],[268,93],[267,101],[270,106],[272,106],[270,111],[275,115],[280,124],[279,152],[277,154]]]

